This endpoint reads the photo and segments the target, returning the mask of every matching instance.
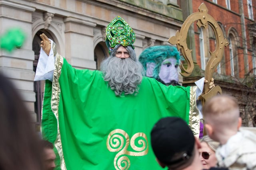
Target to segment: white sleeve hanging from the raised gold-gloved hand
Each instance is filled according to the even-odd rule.
[[[53,44],[53,41],[51,40],[51,45],[52,44]],[[36,75],[35,75],[34,81],[39,81],[39,80],[52,81],[55,58],[56,57],[53,54],[52,48],[50,50],[49,56],[41,48],[40,57],[38,59],[38,64],[37,64],[37,68],[36,68]]]

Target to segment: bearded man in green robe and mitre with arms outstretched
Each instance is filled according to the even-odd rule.
[[[143,76],[134,31],[120,16],[106,28],[110,57],[101,71],[73,68],[52,40],[40,37],[35,80],[46,80],[42,135],[54,143],[61,169],[162,170],[150,147],[150,131],[162,117],[181,117],[198,137],[196,98],[204,80],[185,88]]]

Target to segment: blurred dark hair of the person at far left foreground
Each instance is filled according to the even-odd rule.
[[[31,115],[12,82],[0,73],[0,169],[41,170],[42,155]]]

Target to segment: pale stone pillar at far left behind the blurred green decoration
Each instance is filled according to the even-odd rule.
[[[34,51],[32,51],[32,12],[35,8],[2,0],[0,4],[0,30],[1,35],[8,29],[18,28],[22,30],[26,39],[20,49],[8,52],[0,50],[0,68],[10,78],[20,92],[33,120],[36,121],[34,113]]]

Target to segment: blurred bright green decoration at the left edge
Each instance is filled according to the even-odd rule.
[[[14,48],[20,48],[24,42],[25,34],[18,28],[9,29],[0,37],[0,48],[12,51]]]

